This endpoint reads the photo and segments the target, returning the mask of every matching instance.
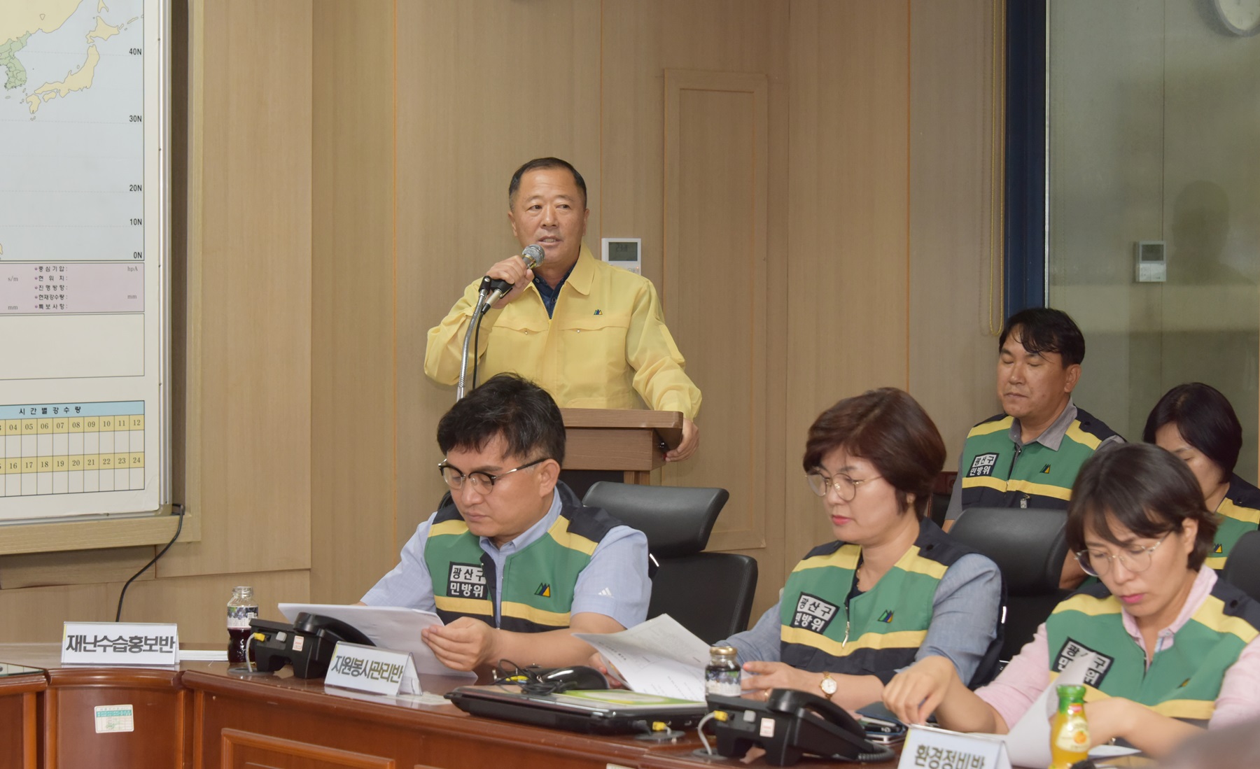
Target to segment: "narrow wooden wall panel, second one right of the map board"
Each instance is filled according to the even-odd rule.
[[[314,35],[311,593],[353,603],[397,554],[393,4],[318,0]]]

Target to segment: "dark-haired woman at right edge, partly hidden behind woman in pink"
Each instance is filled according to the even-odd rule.
[[[1177,385],[1150,409],[1142,439],[1181,457],[1194,474],[1203,503],[1220,515],[1207,565],[1223,569],[1239,537],[1260,525],[1260,490],[1234,472],[1242,448],[1234,407],[1211,385]]]

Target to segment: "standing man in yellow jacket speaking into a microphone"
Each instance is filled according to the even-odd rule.
[[[682,412],[683,439],[667,462],[699,446],[693,422],[701,391],[665,327],[651,281],[596,259],[586,234],[586,181],[568,162],[539,157],[508,185],[508,223],[522,249],[538,244],[529,269],[514,255],[485,274],[512,289],[481,321],[478,375],[513,371],[538,383],[561,407]],[[428,331],[425,374],[455,384],[467,323],[481,279],[474,281],[442,322]],[[471,368],[471,365],[470,365]]]

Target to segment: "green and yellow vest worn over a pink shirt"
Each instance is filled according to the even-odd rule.
[[[1051,680],[1074,658],[1094,652],[1097,657],[1085,676],[1086,701],[1126,697],[1187,721],[1212,717],[1225,671],[1257,634],[1260,604],[1223,580],[1177,631],[1172,647],[1155,652],[1150,667],[1124,629],[1120,600],[1106,585],[1082,588],[1046,620]]]

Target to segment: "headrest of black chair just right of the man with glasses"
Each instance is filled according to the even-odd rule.
[[[626,526],[643,531],[648,549],[658,558],[678,558],[708,545],[717,514],[730,497],[724,488],[600,481],[587,490],[582,503],[602,507]]]

